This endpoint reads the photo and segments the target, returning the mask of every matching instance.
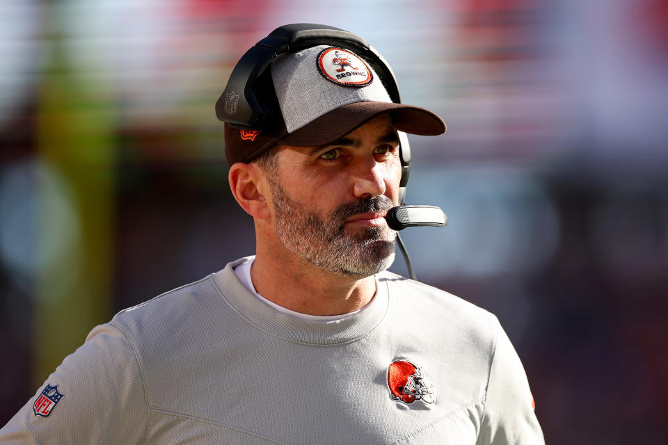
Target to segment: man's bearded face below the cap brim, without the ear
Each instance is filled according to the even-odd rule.
[[[399,139],[389,116],[323,147],[280,147],[269,168],[273,228],[280,243],[330,273],[367,277],[388,268],[396,232]]]

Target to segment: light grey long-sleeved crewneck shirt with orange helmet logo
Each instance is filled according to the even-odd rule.
[[[243,261],[95,327],[0,443],[543,444],[492,314],[383,272],[364,311],[303,320],[253,296]]]

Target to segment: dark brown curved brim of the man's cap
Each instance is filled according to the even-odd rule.
[[[310,147],[331,143],[369,120],[390,113],[395,128],[405,133],[436,136],[445,133],[443,119],[427,108],[391,102],[355,102],[312,120],[301,129],[280,138],[280,145]]]

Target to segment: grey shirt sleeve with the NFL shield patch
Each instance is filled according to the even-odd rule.
[[[134,348],[112,324],[95,327],[0,429],[1,444],[138,444],[148,405]]]

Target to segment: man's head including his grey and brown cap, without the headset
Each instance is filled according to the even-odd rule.
[[[271,93],[273,119],[252,129],[225,123],[230,186],[255,219],[258,252],[352,277],[390,266],[396,232],[384,216],[399,202],[397,131],[435,135],[445,124],[392,102],[384,83],[396,90],[394,78],[381,72],[340,45],[278,54],[257,90]],[[223,93],[218,118],[234,112],[224,97],[235,95]]]

